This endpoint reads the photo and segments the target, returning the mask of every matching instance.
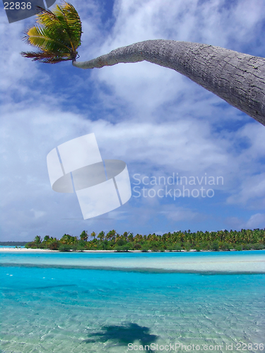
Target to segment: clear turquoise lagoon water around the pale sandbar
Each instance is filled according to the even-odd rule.
[[[257,253],[265,256],[265,251],[243,256],[253,260]],[[225,254],[230,261],[242,256]],[[264,273],[144,267],[148,259],[168,262],[176,256],[192,261],[220,253],[0,253],[0,352],[119,353],[136,352],[140,345],[147,352],[148,347],[169,352],[175,343],[178,352],[185,352],[184,345],[186,352],[263,352]],[[121,267],[67,267],[73,259]],[[128,259],[135,269],[126,270]],[[217,345],[222,348],[214,349]]]

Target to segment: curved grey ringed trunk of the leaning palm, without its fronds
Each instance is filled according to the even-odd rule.
[[[208,44],[146,40],[112,50],[78,68],[149,61],[182,73],[265,125],[265,59]]]

